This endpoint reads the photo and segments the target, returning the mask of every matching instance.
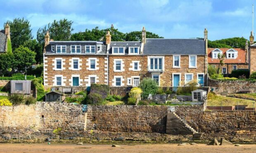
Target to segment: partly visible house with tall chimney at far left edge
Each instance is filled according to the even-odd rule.
[[[5,30],[0,30],[0,53],[6,53],[10,37],[10,26],[6,24]],[[10,42],[9,42],[10,43]]]

